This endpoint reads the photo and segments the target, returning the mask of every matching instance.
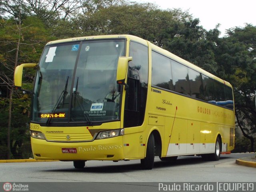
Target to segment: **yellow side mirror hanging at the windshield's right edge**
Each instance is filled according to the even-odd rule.
[[[118,64],[117,64],[117,70],[116,70],[116,83],[122,84],[126,88],[128,88],[128,85],[125,83],[126,74],[129,66],[129,61],[132,60],[132,57],[119,57]]]

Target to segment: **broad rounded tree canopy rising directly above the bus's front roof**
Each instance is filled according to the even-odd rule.
[[[113,4],[96,12],[78,14],[70,21],[74,36],[132,34],[162,46],[165,29],[175,31],[189,17],[192,16],[181,10],[163,11],[154,4],[132,3]]]

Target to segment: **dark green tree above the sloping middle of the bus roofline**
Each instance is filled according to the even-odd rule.
[[[164,48],[170,52],[188,60],[189,62],[203,68],[204,70],[216,74],[218,64],[215,61],[214,50],[218,44],[218,26],[210,31],[206,31],[199,26],[199,19],[188,18],[178,28],[175,33],[166,39]]]

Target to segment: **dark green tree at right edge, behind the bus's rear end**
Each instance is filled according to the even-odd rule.
[[[254,151],[256,133],[256,26],[230,28],[216,50],[218,75],[232,82],[236,118],[243,135],[250,139]]]

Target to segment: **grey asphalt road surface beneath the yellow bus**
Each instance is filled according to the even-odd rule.
[[[36,186],[40,186],[40,190],[36,191],[44,191],[47,186],[54,188],[53,182],[59,182],[56,187],[61,189],[62,186],[62,192],[68,187],[80,190],[83,188],[80,182],[87,182],[88,190],[85,191],[99,187],[96,191],[104,192],[159,191],[158,184],[162,182],[256,182],[256,168],[235,163],[236,159],[248,156],[255,154],[221,155],[220,160],[215,162],[203,161],[198,156],[178,157],[175,162],[164,162],[156,157],[152,170],[141,170],[139,160],[88,161],[81,170],[75,169],[73,162],[0,163],[0,182],[42,182],[36,183]],[[33,191],[31,189],[34,189],[34,185],[29,191]]]

